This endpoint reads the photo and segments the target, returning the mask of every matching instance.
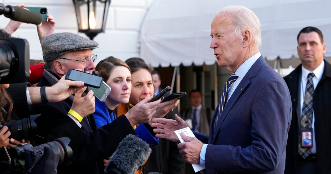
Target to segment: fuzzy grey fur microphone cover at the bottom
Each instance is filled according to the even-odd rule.
[[[108,162],[105,172],[116,167],[124,174],[134,174],[151,154],[149,145],[135,135],[127,135],[118,145]]]

